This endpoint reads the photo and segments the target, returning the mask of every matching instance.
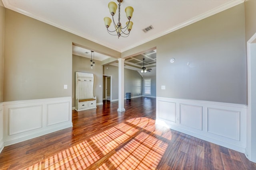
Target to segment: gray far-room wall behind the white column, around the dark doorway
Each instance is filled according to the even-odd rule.
[[[112,65],[103,66],[103,74],[112,76],[112,100],[118,99],[118,67]],[[125,68],[124,95],[127,92],[130,92],[132,97],[141,96],[142,77],[137,71]]]

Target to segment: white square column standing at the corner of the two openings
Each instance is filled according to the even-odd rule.
[[[118,59],[118,109],[117,111],[125,111],[124,109],[124,59]]]

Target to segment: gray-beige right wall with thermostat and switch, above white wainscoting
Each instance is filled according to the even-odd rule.
[[[246,104],[244,4],[125,51],[122,57],[153,47],[156,96]]]

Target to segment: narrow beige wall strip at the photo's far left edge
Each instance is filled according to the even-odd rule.
[[[0,103],[4,101],[4,12],[2,1],[0,1]]]

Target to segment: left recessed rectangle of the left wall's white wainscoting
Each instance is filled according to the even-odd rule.
[[[42,105],[10,108],[10,133],[22,133],[42,127]],[[28,123],[29,122],[29,123]]]

